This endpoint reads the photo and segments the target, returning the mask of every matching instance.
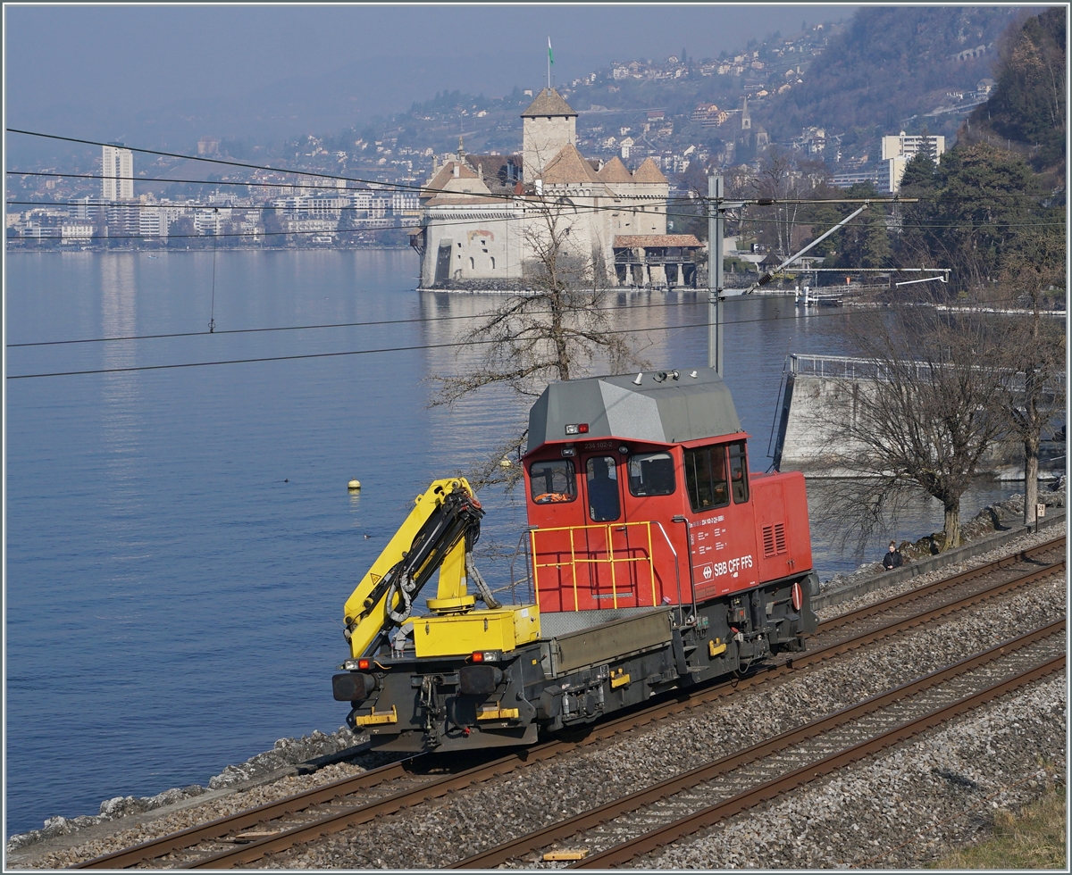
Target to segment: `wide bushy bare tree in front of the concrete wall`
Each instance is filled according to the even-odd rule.
[[[958,546],[961,496],[1008,428],[999,332],[973,313],[915,307],[858,316],[851,334],[867,373],[833,381],[824,458],[864,480],[846,481],[834,510],[860,530],[914,485],[942,502],[941,548]]]

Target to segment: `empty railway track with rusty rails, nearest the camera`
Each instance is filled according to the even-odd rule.
[[[559,861],[583,855],[571,869],[630,863],[1060,670],[1066,663],[1064,629],[1066,621],[1057,620],[851,708],[449,868],[532,868],[545,850]],[[567,842],[568,849],[556,847]]]

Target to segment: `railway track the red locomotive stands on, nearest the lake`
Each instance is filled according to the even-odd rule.
[[[636,712],[604,721],[591,727],[583,736],[560,738],[448,774],[429,769],[429,764],[435,761],[433,756],[410,757],[229,817],[87,860],[72,868],[123,869],[140,865],[226,869],[251,863],[265,855],[280,853],[359,826],[377,816],[419,805],[430,799],[560,756],[579,745],[628,731],[742,689],[798,674],[802,668],[840,653],[921,623],[932,622],[986,599],[1030,586],[1064,570],[1063,558],[1056,562],[1043,560],[1043,557],[1058,552],[1063,556],[1063,546],[1064,539],[1056,539],[1014,557],[1007,557],[953,578],[833,618],[820,624],[812,642],[814,649],[792,654],[749,677],[683,692],[671,701],[657,701]]]

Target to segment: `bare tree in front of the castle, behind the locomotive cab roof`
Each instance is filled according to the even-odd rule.
[[[614,327],[606,266],[589,241],[575,232],[567,199],[530,206],[524,231],[533,258],[524,266],[524,290],[509,295],[461,337],[478,344],[479,363],[455,375],[435,375],[440,391],[431,406],[452,405],[486,387],[506,386],[534,399],[552,380],[586,376],[602,365],[612,372],[646,366],[636,341]],[[459,351],[465,347],[460,347]],[[520,446],[519,431],[473,471],[478,483],[516,482],[517,470],[500,461]]]

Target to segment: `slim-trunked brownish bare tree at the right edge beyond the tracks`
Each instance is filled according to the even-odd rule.
[[[1028,233],[1007,258],[1002,280],[1014,306],[1025,307],[1008,327],[1006,409],[1024,444],[1024,525],[1036,523],[1042,431],[1064,408],[1063,320],[1044,314],[1046,291],[1064,287],[1064,236]],[[1061,292],[1063,293],[1063,291]]]

